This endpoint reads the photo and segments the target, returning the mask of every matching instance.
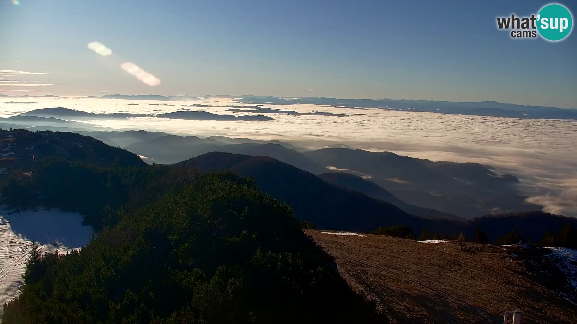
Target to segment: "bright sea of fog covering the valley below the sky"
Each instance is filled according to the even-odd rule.
[[[499,174],[517,176],[520,190],[529,196],[527,202],[543,205],[546,212],[577,216],[575,119],[503,118],[317,104],[264,103],[257,107],[222,97],[198,100],[2,98],[0,116],[6,118],[49,107],[128,116],[55,116],[89,123],[92,130],[144,129],[198,137],[247,137],[280,140],[301,151],[347,147],[433,161],[478,162],[491,165]],[[199,112],[203,117],[193,115],[190,119],[180,119],[188,117],[167,114],[175,111]],[[228,116],[215,118],[204,112]],[[160,114],[167,115],[157,116]]]

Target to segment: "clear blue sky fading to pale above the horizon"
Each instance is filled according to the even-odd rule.
[[[496,28],[497,16],[530,15],[546,3],[0,0],[0,70],[53,73],[0,77],[57,84],[0,82],[0,93],[250,93],[575,108],[575,32],[550,43],[514,40]],[[564,4],[575,16],[574,2]],[[93,41],[114,54],[95,54],[87,48]],[[120,69],[123,62],[162,83],[145,85]]]

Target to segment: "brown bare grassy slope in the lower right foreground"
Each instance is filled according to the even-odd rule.
[[[523,324],[577,323],[575,288],[546,249],[305,232],[393,322],[502,323],[520,310]]]

